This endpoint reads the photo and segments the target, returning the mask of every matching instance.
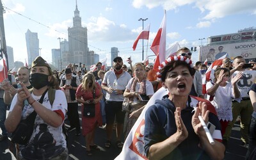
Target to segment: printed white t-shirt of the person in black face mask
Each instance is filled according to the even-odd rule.
[[[37,101],[39,101],[41,98],[41,96],[36,96],[33,93],[31,93],[31,96],[33,97],[33,99],[35,99]],[[10,111],[13,110],[16,102],[17,102],[17,94],[13,97],[12,104],[10,106]],[[55,99],[54,99],[52,106],[51,106],[49,98],[48,98],[48,92],[45,93],[45,97],[44,97],[44,101],[43,101],[42,105],[47,109],[51,109],[52,111],[61,110],[64,116],[67,111],[67,100],[65,98],[65,94],[61,90],[56,90]],[[25,119],[33,111],[34,111],[33,107],[31,107],[29,104],[25,105],[24,109],[22,110],[21,118]],[[40,129],[41,129],[40,127],[42,125],[43,125],[43,127],[47,126],[46,131],[40,131]],[[49,154],[49,155],[54,155],[54,154],[56,154],[56,152],[58,152],[60,150],[62,150],[62,152],[63,152],[63,148],[67,147],[67,143],[65,141],[65,138],[64,138],[64,135],[62,132],[62,125],[60,125],[59,127],[52,127],[51,125],[48,125],[47,123],[45,123],[44,120],[42,120],[42,118],[40,118],[40,116],[36,115],[34,128],[35,129],[34,129],[33,134],[29,140],[28,146],[38,147],[38,145],[41,144],[40,143],[41,141],[43,141],[42,143],[45,143],[45,141],[47,141],[45,139],[49,139],[49,141],[53,140],[53,141],[51,141],[51,143],[48,143],[44,146],[46,149],[44,147],[42,147],[42,149],[44,149],[45,152],[47,152],[47,154]],[[44,140],[42,140],[42,138],[40,139],[40,137],[44,136],[44,135],[45,135],[45,137],[42,137],[42,138],[44,138]],[[31,148],[29,148],[28,146],[20,145],[20,151],[22,152],[22,150],[31,150]]]

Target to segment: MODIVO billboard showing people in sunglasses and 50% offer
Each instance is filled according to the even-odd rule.
[[[241,42],[234,44],[211,45],[200,47],[200,61],[214,61],[228,53],[230,59],[236,56],[243,56],[244,59],[253,60],[256,58],[256,41]]]

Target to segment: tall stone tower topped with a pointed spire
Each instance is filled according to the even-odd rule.
[[[86,66],[90,66],[94,63],[94,61],[88,59],[87,28],[82,26],[77,1],[73,17],[73,27],[68,28],[68,46],[70,52],[68,59],[70,63],[81,62],[86,64]]]

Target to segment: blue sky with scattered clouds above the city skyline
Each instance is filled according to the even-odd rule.
[[[68,40],[68,27],[76,9],[76,0],[2,0],[6,44],[13,47],[14,60],[28,59],[25,33],[38,33],[42,57],[51,63],[51,49],[60,48],[58,38]],[[181,47],[207,44],[207,37],[237,33],[240,29],[255,27],[255,0],[77,0],[82,26],[88,29],[88,47],[108,58],[111,47],[118,47],[119,56],[132,63],[142,61],[142,40],[136,51],[132,44],[150,24],[149,40],[144,40],[144,55],[150,50],[166,10],[166,49],[176,42]],[[146,19],[139,21],[138,19]],[[254,25],[254,26],[253,26]],[[198,40],[203,39],[204,40]],[[150,56],[153,62],[155,56]],[[145,59],[145,58],[144,58]],[[193,52],[198,61],[198,51]]]

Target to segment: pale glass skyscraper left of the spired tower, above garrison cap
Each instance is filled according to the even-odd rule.
[[[28,65],[31,65],[32,61],[39,56],[39,40],[37,33],[31,32],[29,29],[25,33],[26,45],[28,51]]]

